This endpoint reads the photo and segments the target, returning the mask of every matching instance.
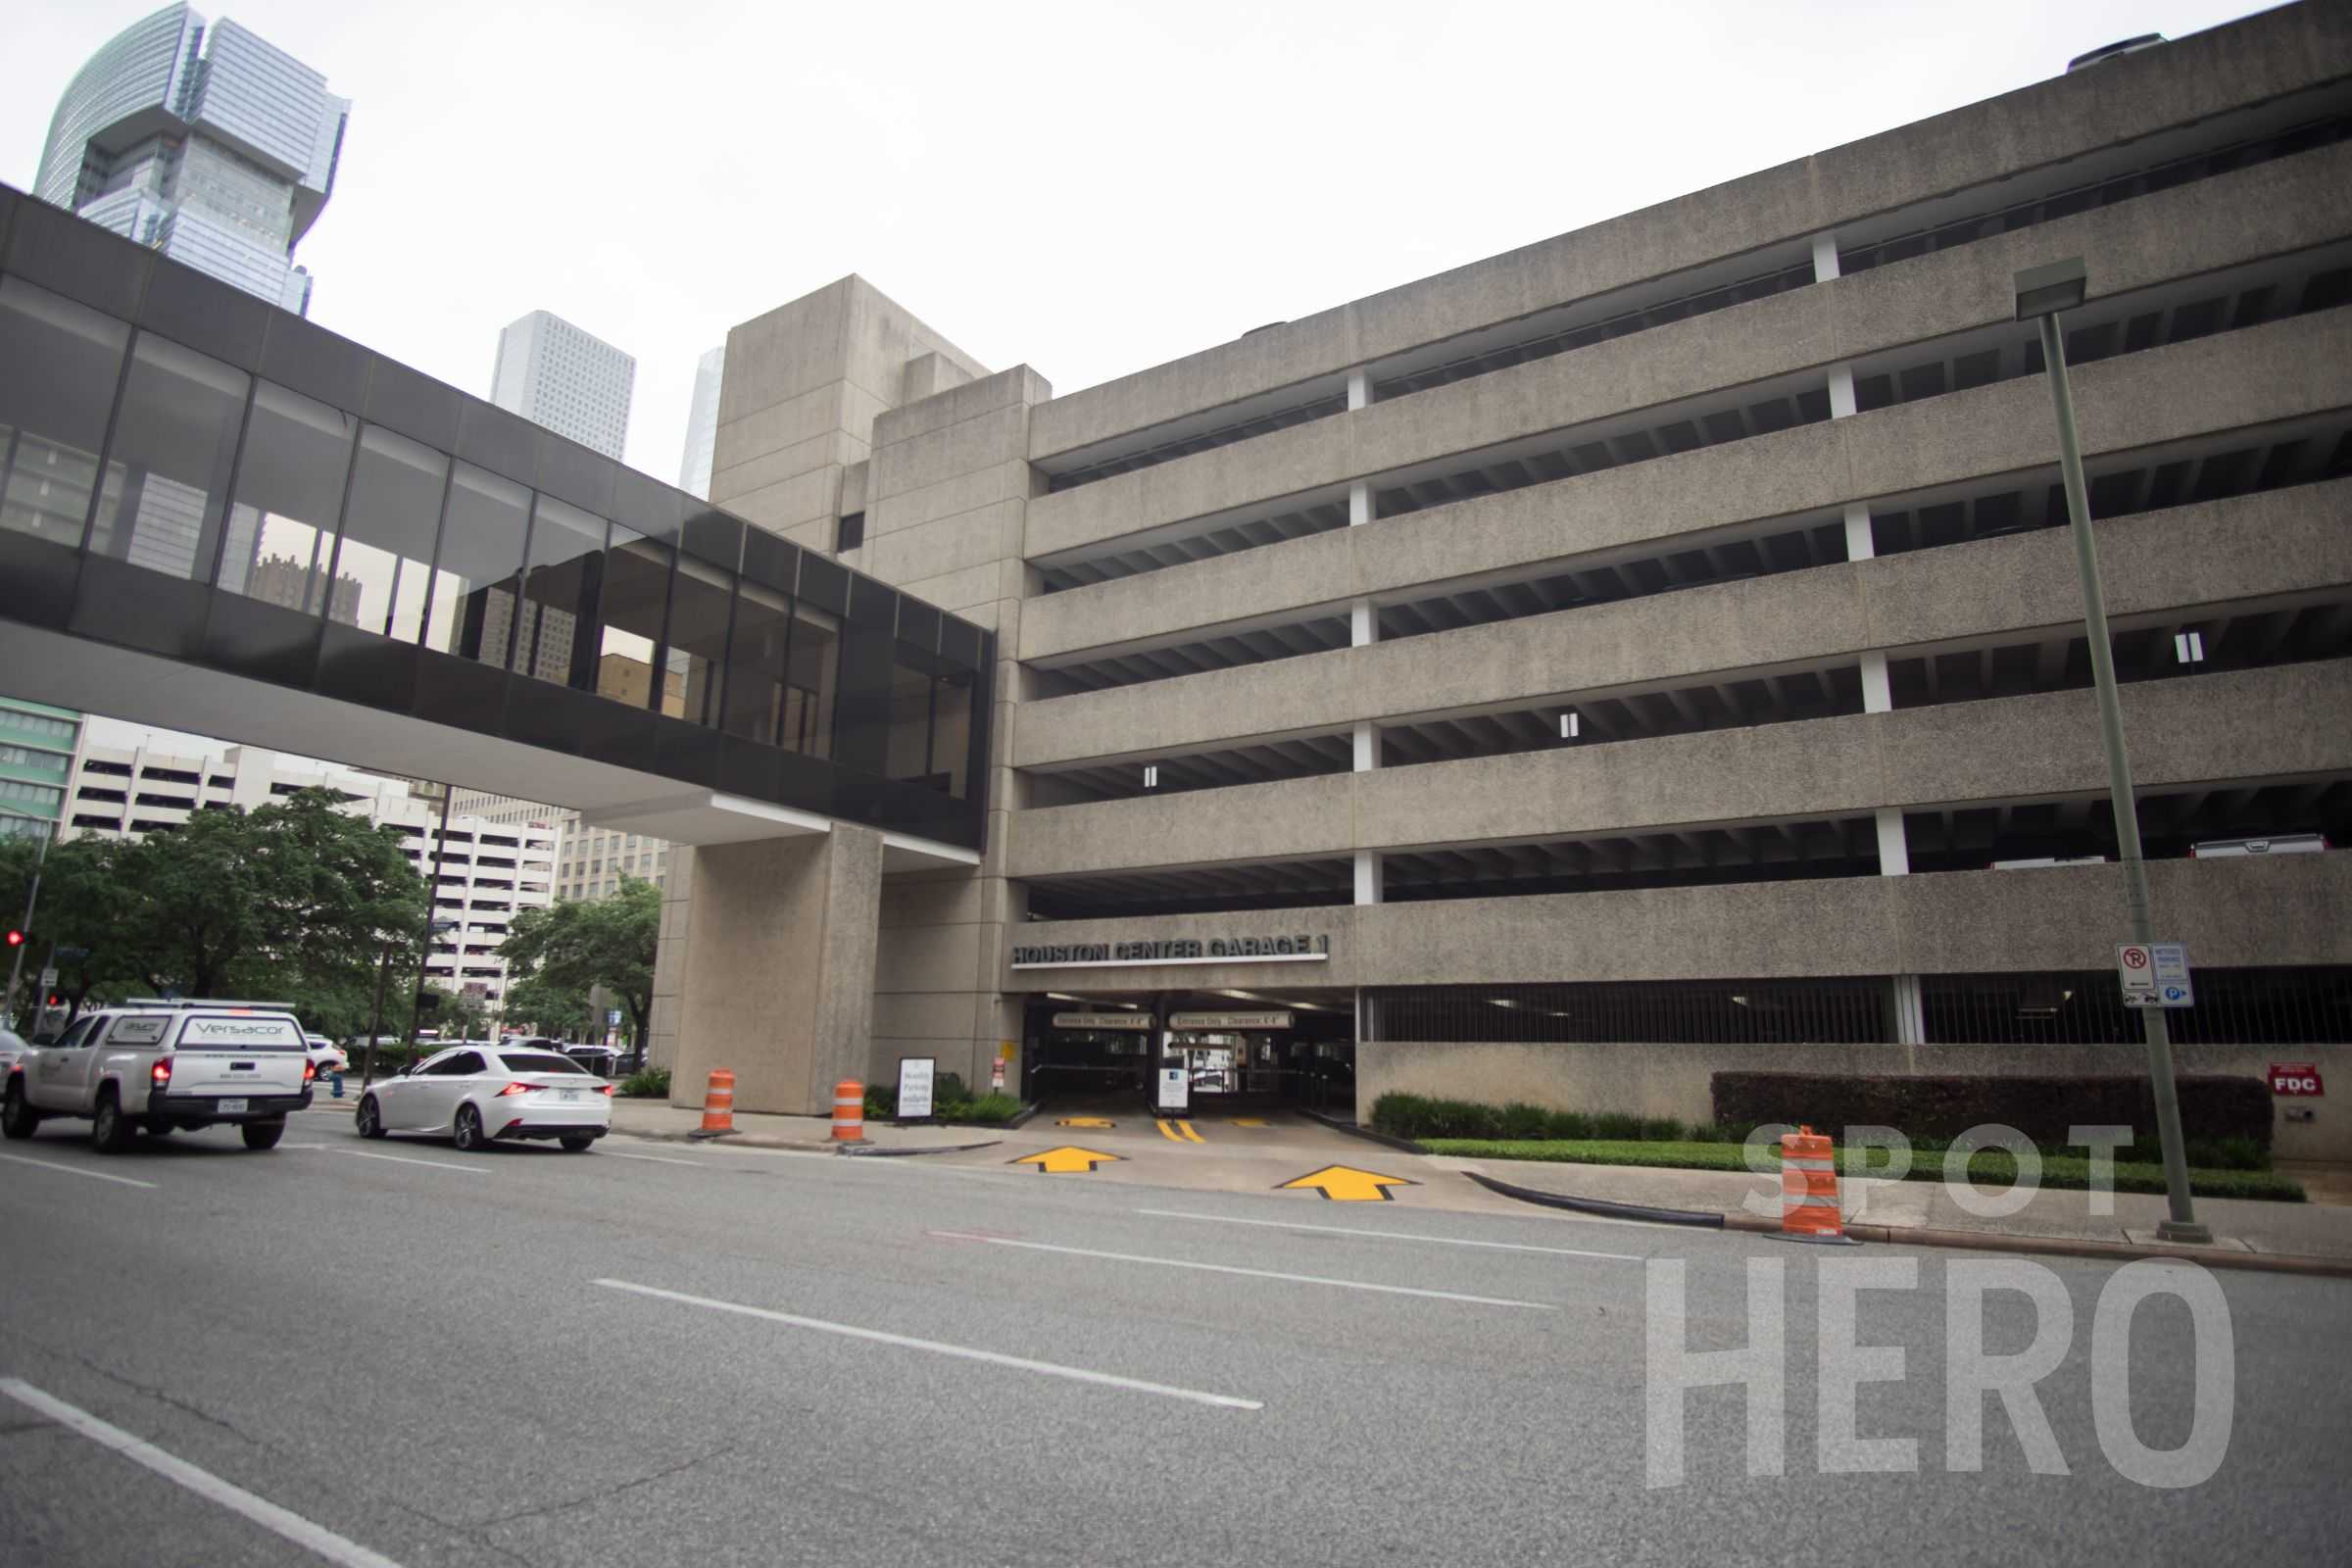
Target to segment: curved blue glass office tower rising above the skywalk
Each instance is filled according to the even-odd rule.
[[[348,120],[310,66],[172,5],[75,73],[33,193],[308,315],[294,247],[334,190]]]

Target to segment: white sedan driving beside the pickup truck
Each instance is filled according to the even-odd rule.
[[[612,1131],[612,1084],[555,1051],[452,1046],[372,1084],[358,1128],[360,1138],[433,1133],[459,1150],[553,1138],[579,1154]]]

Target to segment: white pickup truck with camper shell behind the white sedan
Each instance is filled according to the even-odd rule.
[[[89,1140],[118,1154],[139,1128],[160,1135],[226,1121],[247,1150],[268,1150],[287,1112],[310,1105],[315,1072],[285,1006],[129,1001],[75,1020],[7,1070],[0,1133],[31,1138],[45,1117],[87,1117]]]

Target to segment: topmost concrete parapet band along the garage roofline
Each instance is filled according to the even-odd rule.
[[[1077,451],[1564,301],[1860,226],[2347,73],[2345,7],[2249,16],[1105,381],[1056,400],[1035,423],[1030,456]]]

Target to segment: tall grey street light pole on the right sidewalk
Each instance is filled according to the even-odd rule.
[[[2074,388],[2065,371],[2065,331],[2058,313],[2084,301],[2089,273],[2082,259],[2025,268],[2016,275],[2018,320],[2042,327],[2042,362],[2058,409],[2058,473],[2065,480],[2067,529],[2074,536],[2074,569],[2082,576],[2084,635],[2091,642],[2091,682],[2098,686],[2098,729],[2107,745],[2107,799],[2114,806],[2114,839],[2124,860],[2124,905],[2131,940],[2157,940],[2147,900],[2147,863],[2140,858],[2140,809],[2131,792],[2131,757],[2124,752],[2124,708],[2114,691],[2114,646],[2107,639],[2107,599],[2098,585],[2098,545],[2091,538],[2091,491],[2082,477],[2082,442],[2074,435]],[[2211,1241],[2190,1199],[2190,1164],[2180,1147],[2180,1095],[2173,1088],[2173,1037],[2161,1006],[2143,1006],[2147,1030],[2147,1086],[2157,1103],[2157,1140],[2164,1147],[2164,1194],[2171,1218],[2157,1225],[2164,1241]]]

